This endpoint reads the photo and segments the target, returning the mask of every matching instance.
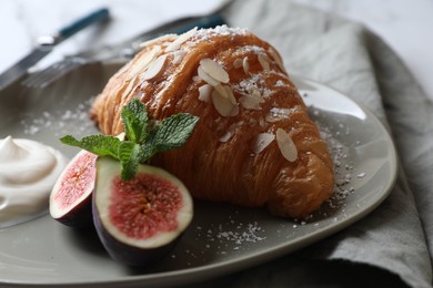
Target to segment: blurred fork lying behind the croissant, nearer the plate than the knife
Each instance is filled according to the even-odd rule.
[[[137,52],[143,49],[141,43],[159,35],[169,33],[180,34],[193,29],[194,27],[213,28],[224,23],[224,19],[218,13],[208,17],[189,17],[178,19],[139,34],[120,44],[105,45],[99,49],[92,49],[78,53],[73,56],[66,56],[63,60],[53,63],[47,69],[30,74],[24,81],[21,82],[21,84],[27,88],[43,89],[68,72],[84,64],[98,62],[125,62],[135,55]]]

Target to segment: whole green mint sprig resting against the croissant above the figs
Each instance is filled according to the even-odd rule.
[[[132,179],[140,163],[148,162],[157,153],[181,147],[190,137],[199,117],[180,113],[154,124],[145,105],[133,99],[121,111],[125,137],[90,135],[77,140],[67,135],[60,141],[67,145],[87,150],[99,156],[111,156],[121,163],[121,177]]]

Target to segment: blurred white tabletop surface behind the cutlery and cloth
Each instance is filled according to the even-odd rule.
[[[289,1],[289,0],[284,0]],[[382,37],[433,99],[433,1],[431,0],[292,0],[360,21]],[[212,13],[230,0],[2,0],[0,2],[0,73],[30,51],[38,37],[51,33],[92,9],[105,6],[111,21],[92,27],[59,45],[38,65],[63,55],[117,43],[162,22]]]

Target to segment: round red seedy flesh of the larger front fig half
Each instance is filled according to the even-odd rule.
[[[128,237],[147,239],[175,230],[181,207],[179,188],[162,177],[141,173],[129,182],[120,176],[113,181],[110,219]]]

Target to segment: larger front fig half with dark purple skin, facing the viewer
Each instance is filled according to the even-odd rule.
[[[131,181],[120,173],[119,161],[98,158],[93,223],[111,258],[144,266],[181,238],[192,219],[192,198],[181,181],[159,167],[139,164]]]

